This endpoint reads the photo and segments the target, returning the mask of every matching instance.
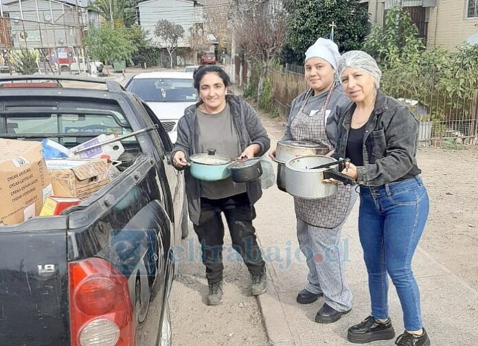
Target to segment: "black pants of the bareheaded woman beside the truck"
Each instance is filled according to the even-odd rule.
[[[249,273],[262,273],[265,264],[252,225],[255,209],[249,203],[247,193],[218,200],[201,198],[201,216],[199,224],[194,224],[194,231],[201,243],[207,281],[218,283],[223,280],[224,224],[221,213],[226,216],[232,246],[241,255]]]

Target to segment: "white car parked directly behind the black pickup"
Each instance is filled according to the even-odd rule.
[[[139,73],[131,77],[125,87],[150,106],[172,143],[176,142],[178,121],[185,108],[199,101],[190,72]]]

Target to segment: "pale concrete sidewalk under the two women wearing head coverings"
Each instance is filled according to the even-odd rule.
[[[267,119],[262,121],[266,123]],[[276,131],[269,135],[271,148],[274,148],[282,133]],[[314,321],[323,299],[310,305],[300,305],[295,301],[297,292],[306,284],[307,266],[295,235],[293,198],[274,186],[264,192],[256,209],[262,217],[255,220],[255,228],[269,270],[269,291],[258,297],[258,301],[271,344],[353,345],[347,341],[348,327],[362,321],[370,313],[367,273],[356,229],[358,203],[343,231],[343,243],[348,256],[345,270],[354,294],[354,308],[350,314],[328,325]],[[263,231],[266,229],[274,231]],[[478,335],[478,292],[420,247],[413,260],[413,269],[420,286],[424,326],[429,332],[431,345],[478,345],[475,340]],[[398,336],[404,327],[393,284],[390,284],[389,304]],[[394,340],[376,341],[370,345],[394,345]]]

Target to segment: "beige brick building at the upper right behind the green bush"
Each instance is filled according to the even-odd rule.
[[[383,25],[385,13],[401,4],[411,14],[426,47],[449,51],[465,41],[478,43],[478,0],[361,0],[367,3],[370,21]]]

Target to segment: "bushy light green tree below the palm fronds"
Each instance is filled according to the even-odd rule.
[[[112,26],[106,23],[100,27],[91,26],[84,42],[89,56],[103,62],[130,60],[137,50],[130,31],[124,25]]]

